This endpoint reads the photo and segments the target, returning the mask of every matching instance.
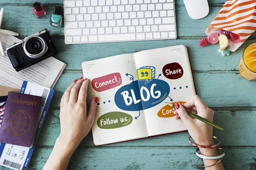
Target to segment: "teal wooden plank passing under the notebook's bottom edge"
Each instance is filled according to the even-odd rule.
[[[214,122],[225,127],[225,131],[214,129],[214,135],[221,139],[222,146],[255,146],[256,108],[254,110],[214,110]],[[250,118],[250,119],[248,119]],[[59,110],[50,110],[41,131],[37,146],[53,146],[60,134]],[[128,142],[105,145],[113,146],[190,146],[189,133],[181,132],[163,136],[154,136]],[[94,146],[90,132],[80,146]]]

